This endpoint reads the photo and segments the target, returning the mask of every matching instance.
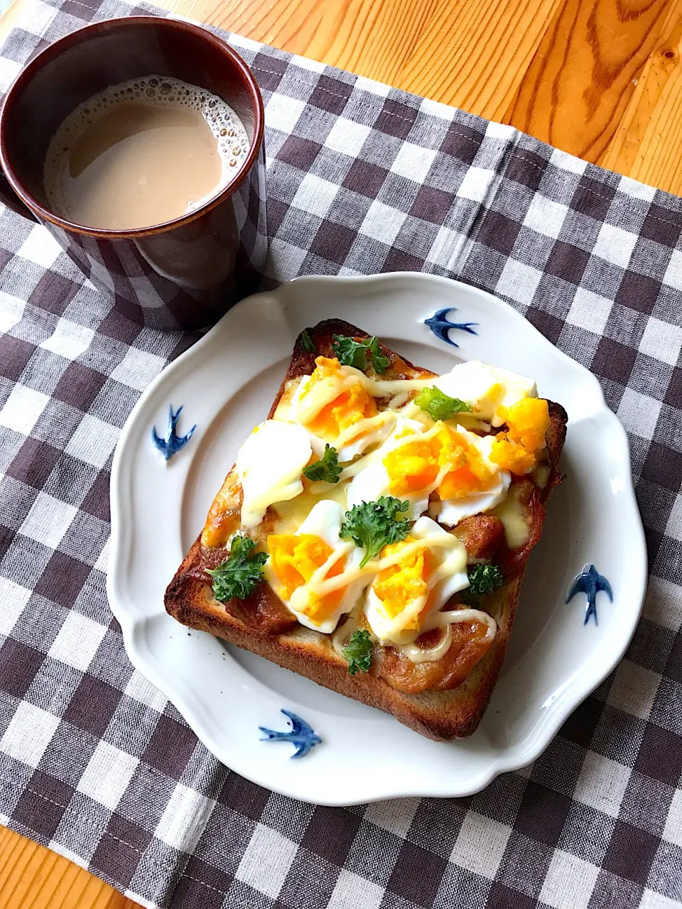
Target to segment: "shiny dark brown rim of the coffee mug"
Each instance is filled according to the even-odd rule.
[[[239,168],[236,175],[229,181],[229,183],[227,183],[219,193],[212,196],[210,199],[207,199],[204,205],[201,205],[199,208],[193,209],[186,215],[181,215],[180,217],[173,218],[170,221],[163,221],[159,224],[150,225],[148,227],[135,227],[125,230],[110,230],[107,228],[79,225],[76,224],[75,221],[68,221],[66,218],[55,215],[54,212],[51,212],[49,209],[45,208],[44,205],[40,205],[34,196],[28,192],[28,190],[25,188],[25,185],[22,184],[21,180],[19,180],[19,178],[15,175],[12,165],[9,162],[7,142],[5,139],[5,112],[11,107],[11,105],[15,104],[16,95],[25,87],[25,85],[31,81],[31,79],[37,72],[39,72],[45,63],[55,59],[55,57],[60,55],[63,51],[65,51],[65,49],[78,44],[79,41],[83,40],[84,37],[87,37],[88,33],[101,30],[103,26],[125,28],[129,25],[154,25],[157,28],[160,26],[162,28],[174,28],[177,31],[181,32],[191,32],[195,35],[201,36],[209,44],[214,45],[223,54],[231,57],[233,64],[236,65],[236,68],[243,75],[253,101],[255,113],[254,138],[249,147],[249,151],[246,155],[244,164]],[[249,174],[252,166],[256,162],[257,156],[260,153],[260,149],[263,145],[263,136],[265,133],[265,119],[266,117],[265,107],[263,105],[263,96],[261,95],[260,88],[256,83],[256,77],[249,69],[244,58],[237,54],[236,51],[230,47],[230,45],[228,45],[222,38],[218,38],[216,35],[213,35],[201,25],[194,25],[193,23],[183,22],[179,19],[169,19],[165,18],[165,16],[118,16],[113,19],[104,19],[101,22],[85,25],[83,28],[75,29],[75,31],[69,32],[68,35],[64,35],[64,37],[57,39],[51,45],[45,47],[45,50],[41,51],[39,54],[36,54],[35,57],[33,57],[33,59],[25,65],[24,69],[19,73],[19,75],[16,76],[15,81],[12,83],[12,85],[10,85],[7,94],[5,95],[5,101],[0,108],[0,167],[2,167],[3,171],[5,172],[5,176],[9,184],[15,190],[16,195],[19,196],[22,202],[24,202],[24,204],[35,215],[37,215],[41,221],[48,221],[50,224],[61,227],[63,230],[67,231],[70,234],[94,236],[106,240],[135,239],[138,237],[165,233],[167,230],[174,230],[176,227],[182,227],[191,224],[193,221],[196,221],[198,217],[206,215],[207,212],[210,212],[218,205],[221,205],[230,195],[233,195],[236,189],[244,182],[244,180],[246,180],[247,175]]]

